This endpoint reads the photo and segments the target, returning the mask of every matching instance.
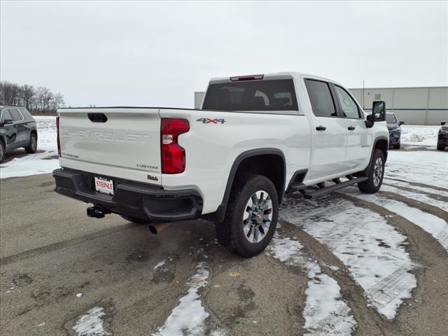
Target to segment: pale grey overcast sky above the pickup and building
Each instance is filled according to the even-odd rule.
[[[1,1],[1,80],[67,106],[193,107],[211,77],[302,71],[347,87],[448,85],[438,2]]]

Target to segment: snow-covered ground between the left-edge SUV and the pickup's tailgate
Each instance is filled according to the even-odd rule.
[[[13,158],[0,165],[0,178],[47,174],[59,167],[56,144],[56,117],[34,116],[37,123],[37,153]],[[23,151],[25,150],[16,150]],[[42,152],[43,151],[43,152]],[[6,159],[11,154],[6,155]]]

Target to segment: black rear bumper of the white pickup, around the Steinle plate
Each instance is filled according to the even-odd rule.
[[[202,214],[202,197],[197,190],[164,190],[113,179],[113,195],[94,190],[94,174],[73,169],[56,169],[55,192],[86,203],[101,205],[109,211],[151,221],[182,221],[199,218]]]

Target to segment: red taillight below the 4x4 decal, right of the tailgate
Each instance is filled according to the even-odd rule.
[[[160,155],[162,174],[179,174],[185,170],[185,149],[179,146],[180,134],[190,130],[188,120],[162,118],[160,127]]]

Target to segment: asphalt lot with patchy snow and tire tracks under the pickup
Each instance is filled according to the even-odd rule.
[[[205,221],[154,236],[87,218],[50,174],[2,179],[0,333],[448,335],[448,153],[415,147],[389,152],[376,195],[287,197],[251,259]]]

